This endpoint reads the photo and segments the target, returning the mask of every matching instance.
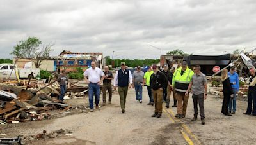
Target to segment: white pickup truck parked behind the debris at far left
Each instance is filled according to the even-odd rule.
[[[0,64],[0,78],[16,78],[15,71],[18,71],[20,78],[29,78],[31,72],[33,72],[32,78],[40,74],[40,69],[17,69],[13,64]]]

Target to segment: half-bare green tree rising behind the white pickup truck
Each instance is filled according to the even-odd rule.
[[[51,47],[53,46],[53,44],[48,44],[40,48],[40,45],[42,45],[40,39],[29,37],[26,40],[19,41],[10,54],[15,55],[17,58],[31,59],[35,67],[38,68],[41,66],[42,60],[49,59]]]

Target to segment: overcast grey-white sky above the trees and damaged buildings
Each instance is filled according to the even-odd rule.
[[[51,55],[62,50],[114,58],[159,58],[180,49],[221,55],[256,48],[256,1],[12,1],[0,5],[0,58],[19,40],[36,36]]]

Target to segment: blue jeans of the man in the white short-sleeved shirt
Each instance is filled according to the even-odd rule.
[[[99,106],[100,102],[100,85],[97,83],[89,83],[89,102],[90,109],[93,109],[93,95],[95,95],[95,104]]]

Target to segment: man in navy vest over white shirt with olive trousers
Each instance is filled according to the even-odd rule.
[[[118,93],[120,96],[120,106],[122,113],[125,113],[126,96],[128,92],[128,86],[132,86],[132,73],[128,69],[125,69],[125,62],[121,62],[121,69],[116,71],[114,78],[114,90],[118,86]]]

